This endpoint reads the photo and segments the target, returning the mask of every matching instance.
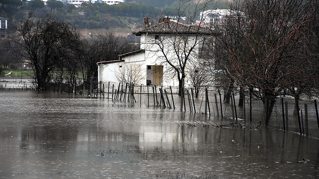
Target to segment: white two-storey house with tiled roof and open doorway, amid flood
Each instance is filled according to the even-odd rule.
[[[212,32],[170,18],[162,18],[156,25],[144,19],[145,29],[135,33],[140,38],[140,50],[121,54],[115,61],[98,62],[98,80],[120,82],[119,73],[123,76],[126,72],[140,79],[137,84],[178,87],[183,77],[188,85],[190,62],[199,59],[201,44]]]

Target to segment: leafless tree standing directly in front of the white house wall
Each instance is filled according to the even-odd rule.
[[[179,82],[179,95],[182,92],[182,81],[187,77],[187,70],[190,61],[198,60],[199,43],[204,37],[211,36],[210,29],[201,26],[203,19],[197,20],[197,14],[204,11],[210,1],[193,3],[179,2],[176,7],[178,17],[186,16],[186,20],[181,18],[171,21],[169,18],[159,19],[158,25],[153,25],[136,33],[150,33],[154,38],[149,41],[141,41],[141,48],[150,52],[149,56],[155,56],[156,62],[167,64],[166,76],[177,77]],[[193,7],[193,8],[190,8]],[[197,25],[194,25],[195,23]]]

